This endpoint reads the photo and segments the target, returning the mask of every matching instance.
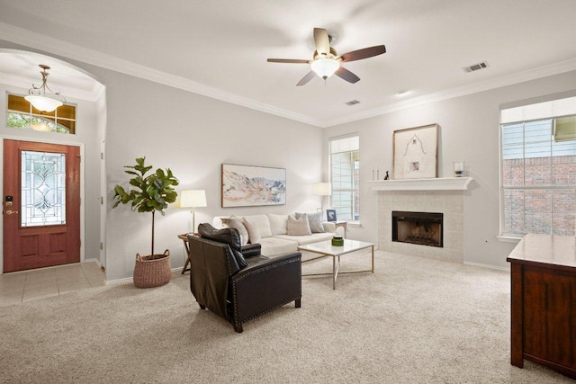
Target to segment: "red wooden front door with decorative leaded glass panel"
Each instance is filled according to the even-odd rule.
[[[4,140],[4,272],[80,262],[80,148]]]

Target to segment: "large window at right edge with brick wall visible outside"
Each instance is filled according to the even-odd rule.
[[[500,232],[505,237],[575,235],[576,116],[550,116],[554,108],[543,104],[554,102],[501,111]],[[532,119],[514,121],[518,117]]]

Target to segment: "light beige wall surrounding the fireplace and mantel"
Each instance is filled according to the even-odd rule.
[[[515,244],[497,239],[500,105],[572,91],[575,85],[573,71],[325,129],[325,139],[356,131],[360,134],[362,225],[349,228],[350,237],[377,239],[378,194],[365,182],[372,180],[373,167],[378,166],[381,175],[392,170],[394,130],[437,123],[438,177],[451,177],[453,162],[464,160],[466,175],[474,178],[464,193],[464,262],[507,268],[506,257]]]

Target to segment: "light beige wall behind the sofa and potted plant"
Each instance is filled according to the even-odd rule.
[[[1,40],[0,48],[26,49]],[[71,139],[84,144],[87,157],[85,238],[91,244],[90,255],[95,254],[86,257],[98,257],[101,188],[105,192],[102,227],[107,281],[130,278],[135,255],[149,253],[151,215],[134,213],[126,206],[112,210],[113,187],[127,180],[123,165],[132,165],[137,156],[147,156],[148,164],[155,167],[170,167],[180,180],[179,191],[206,190],[208,207],[197,210],[196,223],[211,221],[216,215],[263,210],[315,211],[320,206],[319,198],[311,194],[311,184],[321,181],[322,129],[102,67],[60,59],[84,69],[106,86],[105,103],[92,103],[92,112],[86,115],[88,121],[82,122],[86,128],[90,127],[85,130],[90,136],[78,135]],[[25,92],[27,90],[20,90]],[[81,110],[88,111],[84,107]],[[0,118],[3,117],[0,115]],[[80,127],[78,130],[82,131]],[[7,134],[15,134],[14,129],[2,131],[3,136]],[[36,138],[38,132],[17,134]],[[106,142],[105,170],[101,183],[100,143],[103,140]],[[220,208],[221,163],[286,168],[286,205]],[[165,216],[157,215],[156,250],[170,249],[174,268],[184,264],[184,247],[176,236],[190,227],[190,210],[178,209],[175,205],[166,210]]]

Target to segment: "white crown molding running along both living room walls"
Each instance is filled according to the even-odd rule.
[[[348,122],[365,120],[374,116],[402,111],[427,103],[440,102],[467,94],[476,94],[506,85],[515,85],[545,76],[554,76],[564,72],[576,70],[576,58],[574,58],[549,66],[527,70],[510,76],[501,76],[496,79],[455,87],[434,94],[426,94],[398,103],[390,103],[384,105],[383,107],[347,115],[338,119],[321,121],[319,119],[314,119],[311,116],[290,112],[266,103],[259,103],[252,99],[238,96],[238,94],[231,94],[229,92],[222,91],[208,85],[194,82],[193,80],[186,79],[181,76],[175,76],[150,67],[145,67],[138,63],[130,62],[129,60],[116,58],[114,56],[98,52],[94,49],[86,49],[84,47],[71,44],[63,40],[50,38],[48,36],[41,35],[40,33],[28,31],[11,24],[7,24],[5,22],[0,22],[0,36],[2,36],[2,40],[11,41],[33,49],[39,49],[40,51],[44,51],[49,54],[56,54],[65,58],[71,58],[79,62],[94,65],[96,67],[103,67],[125,75],[136,76],[158,84],[168,85],[174,88],[182,89],[184,91],[192,92],[194,94],[201,94],[212,99],[217,99],[222,102],[237,104],[252,110],[270,113],[276,116],[284,117],[293,121],[300,121],[320,128],[329,128]]]

